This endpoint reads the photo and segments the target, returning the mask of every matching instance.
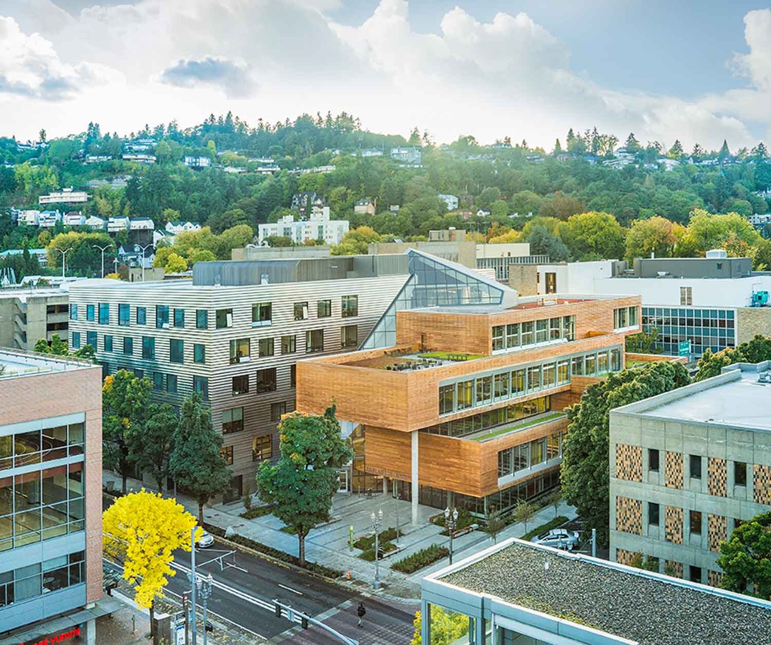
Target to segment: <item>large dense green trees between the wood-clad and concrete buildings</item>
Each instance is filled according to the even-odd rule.
[[[571,424],[564,445],[562,492],[588,528],[597,528],[601,545],[608,545],[610,522],[608,413],[689,382],[688,372],[680,363],[649,363],[608,375],[590,385],[581,401],[567,408]]]

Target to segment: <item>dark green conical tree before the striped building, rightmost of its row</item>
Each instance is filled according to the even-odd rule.
[[[198,502],[198,522],[204,522],[204,504],[227,491],[232,473],[222,454],[222,436],[211,425],[211,412],[199,393],[182,404],[180,422],[173,435],[170,470],[177,485]]]

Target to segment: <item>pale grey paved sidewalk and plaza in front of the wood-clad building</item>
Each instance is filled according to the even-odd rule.
[[[120,478],[110,471],[103,471],[103,481],[113,480],[116,488],[120,488]],[[138,491],[143,485],[140,481],[130,479],[128,488]],[[152,486],[144,485],[151,489]],[[168,494],[168,493],[167,493]],[[177,495],[177,501],[188,512],[198,514],[198,506],[194,500],[184,495]],[[375,581],[375,562],[367,562],[359,556],[359,549],[350,549],[348,536],[350,527],[353,527],[354,539],[372,532],[372,512],[383,512],[381,530],[396,528],[397,517],[399,529],[404,533],[399,538],[399,552],[388,558],[382,559],[379,564],[379,576],[385,592],[379,595],[392,599],[416,599],[420,597],[420,581],[431,572],[442,569],[447,565],[447,560],[434,563],[432,566],[421,569],[410,576],[392,571],[390,566],[396,560],[411,556],[420,549],[437,544],[449,545],[449,538],[439,535],[443,531],[440,526],[429,522],[429,517],[437,515],[441,511],[438,508],[420,505],[418,507],[419,522],[413,525],[410,522],[412,504],[393,498],[391,495],[380,493],[370,498],[359,495],[338,494],[332,500],[332,521],[314,528],[305,539],[305,557],[311,562],[318,562],[333,569],[351,572],[352,579],[371,584]],[[256,542],[280,549],[292,556],[298,555],[298,539],[296,535],[290,535],[281,531],[283,522],[274,515],[264,515],[261,518],[247,520],[239,516],[244,512],[241,501],[231,502],[227,505],[216,504],[204,507],[204,520],[212,525],[243,535]],[[528,530],[543,525],[554,518],[554,507],[541,508],[534,518],[527,523]],[[564,501],[557,510],[557,515],[565,515],[567,518],[576,516],[575,509]],[[510,537],[521,537],[525,533],[523,524],[507,526],[498,535],[499,540]],[[396,540],[393,541],[396,544]],[[493,545],[490,535],[481,531],[472,531],[453,539],[453,560],[458,561],[480,552]]]

